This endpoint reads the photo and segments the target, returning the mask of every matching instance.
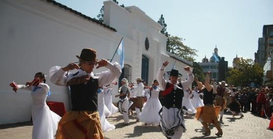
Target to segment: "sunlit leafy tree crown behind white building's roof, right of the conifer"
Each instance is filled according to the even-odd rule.
[[[197,50],[184,45],[182,40],[182,38],[177,36],[169,37],[169,46],[167,46],[167,51],[185,60],[194,61],[195,59],[193,57],[197,56]]]

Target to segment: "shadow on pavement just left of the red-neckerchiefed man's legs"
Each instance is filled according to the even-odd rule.
[[[134,133],[133,134],[125,134],[128,135],[126,138],[133,138],[133,137],[139,137],[141,136],[143,133],[150,133],[150,132],[160,132],[162,133],[162,131],[160,131],[160,128],[158,126],[140,126],[137,125],[134,127]]]

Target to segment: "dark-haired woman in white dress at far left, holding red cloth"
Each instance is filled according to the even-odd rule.
[[[34,80],[27,82],[26,85],[17,85],[15,82],[10,84],[16,93],[18,89],[31,91],[32,139],[55,139],[58,122],[61,119],[46,104],[49,86],[45,82],[45,75],[38,72]]]

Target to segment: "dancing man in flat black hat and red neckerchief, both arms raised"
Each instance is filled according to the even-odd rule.
[[[186,89],[191,85],[194,76],[190,67],[187,66],[184,67],[184,70],[189,73],[187,80],[178,82],[178,70],[172,69],[170,78],[167,81],[164,79],[163,75],[168,63],[168,61],[165,61],[157,72],[158,82],[162,86],[161,88],[164,89],[164,92],[162,93],[164,105],[159,112],[161,115],[160,124],[167,139],[180,139],[182,133],[186,131],[182,110],[182,98],[184,96],[183,88]]]

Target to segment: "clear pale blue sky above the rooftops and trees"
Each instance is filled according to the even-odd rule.
[[[56,0],[91,18],[97,18],[105,0]],[[254,60],[263,25],[273,24],[273,0],[117,0],[135,5],[153,20],[164,15],[167,32],[198,50],[197,62],[218,55],[228,65],[238,56]]]

